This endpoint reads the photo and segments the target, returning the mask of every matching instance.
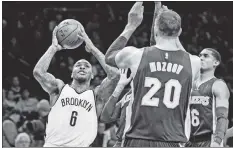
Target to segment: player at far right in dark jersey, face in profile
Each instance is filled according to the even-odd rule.
[[[220,54],[206,48],[200,53],[201,76],[193,87],[190,100],[191,137],[187,147],[218,147],[227,129],[229,90],[214,76],[221,63]]]

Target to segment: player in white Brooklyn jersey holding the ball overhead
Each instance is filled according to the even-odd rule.
[[[104,55],[85,34],[87,51],[101,56],[95,55],[102,67],[107,70],[108,78],[102,82],[100,87],[94,91],[90,90],[90,81],[93,78],[92,66],[87,60],[81,59],[74,64],[71,74],[73,81],[70,85],[56,79],[47,72],[55,53],[62,50],[56,39],[56,32],[57,27],[53,31],[52,45],[33,70],[35,79],[50,96],[51,111],[48,115],[44,147],[88,147],[97,134],[95,101],[109,97],[110,95],[107,94],[112,93],[109,89],[115,89],[111,86],[116,86],[119,77],[105,64]],[[112,72],[111,75],[109,72]]]

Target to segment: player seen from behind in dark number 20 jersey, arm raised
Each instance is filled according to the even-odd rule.
[[[168,9],[162,10],[154,21],[156,45],[116,49],[117,43],[127,42],[142,21],[142,2],[136,2],[134,8],[138,12],[129,13],[134,21],[128,19],[125,30],[105,57],[107,64],[130,68],[134,76],[124,146],[178,147],[189,139],[189,96],[200,70],[200,59],[184,52],[178,44],[181,18]]]

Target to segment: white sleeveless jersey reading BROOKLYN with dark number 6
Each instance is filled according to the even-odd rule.
[[[44,146],[88,147],[97,126],[93,91],[78,94],[66,84],[49,113]]]

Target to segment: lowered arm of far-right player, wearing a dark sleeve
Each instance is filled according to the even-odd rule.
[[[216,99],[216,130],[214,133],[214,142],[211,143],[211,147],[220,147],[225,137],[228,126],[228,108],[230,92],[225,82],[217,80],[213,84],[213,95]]]

